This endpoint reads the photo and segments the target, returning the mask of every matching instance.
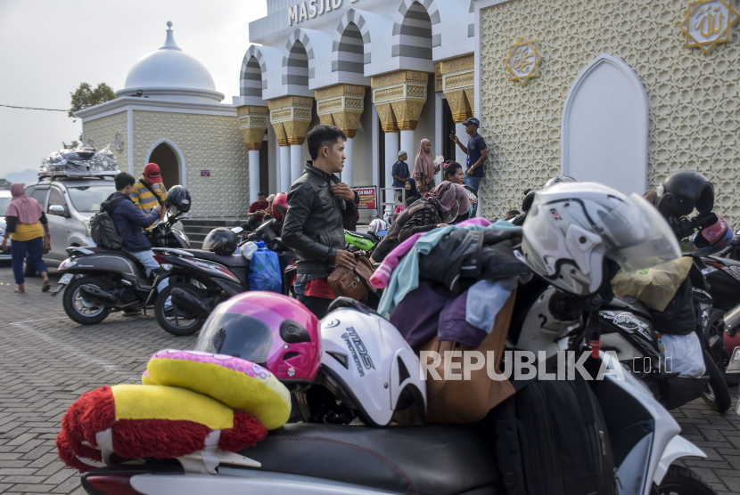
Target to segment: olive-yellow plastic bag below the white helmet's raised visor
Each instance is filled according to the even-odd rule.
[[[694,260],[683,256],[668,263],[656,264],[639,272],[617,272],[612,289],[617,297],[636,297],[655,311],[665,311],[686,280]]]

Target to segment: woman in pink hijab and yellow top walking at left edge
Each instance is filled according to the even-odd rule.
[[[12,239],[12,273],[15,275],[15,283],[18,284],[18,290],[15,292],[26,292],[26,280],[23,277],[23,261],[26,259],[26,253],[29,254],[29,264],[41,273],[44,279],[41,290],[46,292],[51,284],[46,264],[41,256],[44,248],[49,247],[51,236],[44,208],[38,204],[36,199],[26,196],[23,184],[12,184],[11,194],[11,204],[5,214],[3,250],[8,248],[8,236],[10,236]]]

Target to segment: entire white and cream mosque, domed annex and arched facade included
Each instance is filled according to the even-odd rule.
[[[287,191],[319,123],[349,137],[342,181],[383,188],[424,138],[465,165],[449,134],[466,143],[475,117],[489,218],[558,173],[641,195],[694,168],[737,223],[737,19],[732,0],[267,0],[231,105],[168,30],[116,100],[78,115],[136,174],[159,160],[193,192],[193,216],[244,215],[257,191]],[[214,194],[223,203],[198,200]]]

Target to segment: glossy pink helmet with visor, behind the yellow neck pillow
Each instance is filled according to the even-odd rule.
[[[289,388],[300,388],[313,381],[321,364],[319,323],[291,297],[245,292],[218,304],[195,350],[256,362]]]

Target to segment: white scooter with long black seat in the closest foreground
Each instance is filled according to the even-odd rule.
[[[574,329],[577,335],[563,337],[563,348],[582,349],[584,339],[595,335],[593,311],[589,315],[586,325]],[[333,320],[330,312],[322,326],[335,326]],[[706,457],[703,451],[679,435],[675,419],[620,362],[606,359],[603,351],[598,356],[598,365],[604,360],[607,369],[620,369],[624,376],[619,379],[619,373],[608,373],[604,380],[590,382],[611,437],[618,492],[714,493],[690,469],[673,465],[686,456]],[[368,359],[379,362],[381,357],[368,355]],[[472,426],[295,423],[271,431],[238,454],[207,448],[177,460],[111,463],[83,475],[82,486],[96,495],[492,495],[503,490],[495,466],[492,450]]]

